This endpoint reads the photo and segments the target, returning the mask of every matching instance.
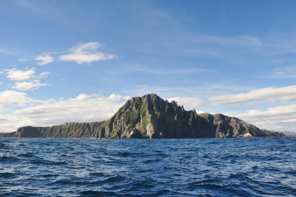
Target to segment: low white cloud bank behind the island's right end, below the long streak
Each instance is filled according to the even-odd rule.
[[[275,131],[296,131],[296,104],[248,110],[236,115],[239,119]]]

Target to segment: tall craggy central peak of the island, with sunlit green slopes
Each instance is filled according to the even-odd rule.
[[[156,94],[134,97],[108,121],[106,137],[182,138],[214,137],[208,122],[195,111]]]

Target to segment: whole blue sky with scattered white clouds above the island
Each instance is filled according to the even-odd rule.
[[[0,2],[0,132],[156,93],[296,132],[296,1]]]

